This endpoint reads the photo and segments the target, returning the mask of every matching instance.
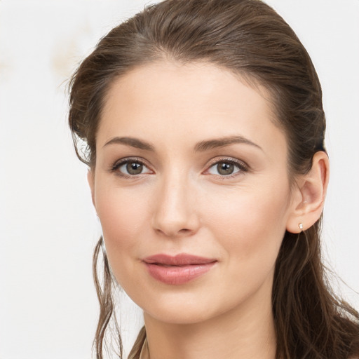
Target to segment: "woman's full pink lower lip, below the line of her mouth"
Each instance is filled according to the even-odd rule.
[[[164,266],[145,263],[149,274],[156,280],[170,285],[180,285],[207,273],[216,262],[205,264],[189,264],[186,266]]]

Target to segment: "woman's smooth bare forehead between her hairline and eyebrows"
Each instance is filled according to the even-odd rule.
[[[97,141],[103,144],[114,133],[154,140],[243,135],[262,144],[278,137],[285,145],[274,123],[264,87],[212,64],[163,61],[137,67],[114,81]]]

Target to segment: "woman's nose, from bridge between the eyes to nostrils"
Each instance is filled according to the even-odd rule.
[[[158,184],[157,194],[154,203],[154,230],[168,238],[194,235],[200,225],[194,186],[179,175],[172,176],[163,178]]]

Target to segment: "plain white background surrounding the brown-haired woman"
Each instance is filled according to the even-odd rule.
[[[322,81],[332,165],[324,252],[359,291],[359,1],[271,0]],[[66,81],[149,1],[0,0],[0,359],[90,358],[100,229],[67,129]],[[359,307],[358,295],[341,285]],[[140,327],[128,301],[126,348]]]

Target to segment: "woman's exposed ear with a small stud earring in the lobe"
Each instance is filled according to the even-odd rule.
[[[324,151],[313,156],[311,170],[299,177],[296,194],[292,196],[292,210],[287,220],[287,231],[300,233],[318,221],[323,212],[329,180],[329,159]]]

